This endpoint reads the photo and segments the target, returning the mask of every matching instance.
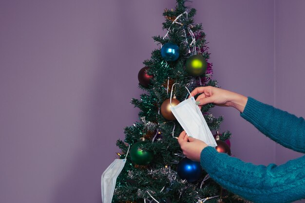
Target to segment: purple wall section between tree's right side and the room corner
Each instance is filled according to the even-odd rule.
[[[198,8],[196,19],[203,23],[210,42],[210,61],[219,85],[273,105],[273,0],[209,0],[194,4]],[[275,144],[241,118],[238,111],[215,107],[213,112],[224,115],[220,130],[232,132],[233,155],[255,164],[275,161]]]

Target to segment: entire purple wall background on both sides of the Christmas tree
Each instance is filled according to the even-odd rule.
[[[220,86],[305,114],[305,96],[295,93],[305,74],[301,0],[189,4],[203,23]],[[163,10],[174,5],[0,1],[1,203],[100,202],[100,175],[119,152],[115,141],[138,119],[129,104],[141,93],[138,71],[157,48],[151,37],[165,34]],[[236,157],[267,165],[299,156],[237,111],[213,113],[225,116],[221,130],[233,133]]]

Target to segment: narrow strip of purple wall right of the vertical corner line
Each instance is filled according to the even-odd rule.
[[[305,116],[305,1],[275,1],[275,106]],[[304,142],[300,140],[300,142]],[[304,154],[276,145],[276,163]]]

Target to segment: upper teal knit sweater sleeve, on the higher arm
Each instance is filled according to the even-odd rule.
[[[240,115],[275,142],[286,148],[305,152],[303,117],[298,118],[251,97],[248,97],[245,110]]]

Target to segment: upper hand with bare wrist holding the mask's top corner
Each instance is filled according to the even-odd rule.
[[[217,106],[234,107],[243,112],[248,101],[248,98],[244,95],[211,86],[195,88],[191,92],[191,96],[199,93],[201,94],[196,99],[199,108],[202,105],[214,103]]]

